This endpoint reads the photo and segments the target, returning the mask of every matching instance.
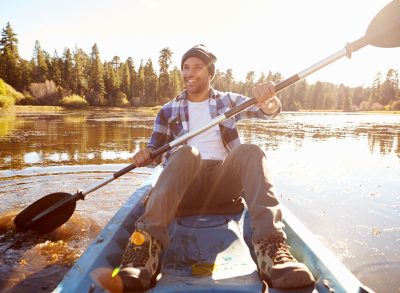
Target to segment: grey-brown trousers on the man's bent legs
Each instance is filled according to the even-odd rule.
[[[249,210],[253,243],[274,235],[286,238],[267,159],[258,146],[239,145],[224,161],[202,160],[196,148],[181,146],[160,174],[136,228],[165,248],[175,216],[239,212],[243,208],[240,197]]]

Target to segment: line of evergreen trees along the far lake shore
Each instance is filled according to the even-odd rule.
[[[183,88],[181,71],[171,66],[173,52],[160,51],[158,72],[149,58],[137,67],[131,57],[121,60],[114,56],[102,61],[94,44],[90,54],[80,48],[46,52],[35,42],[31,60],[18,53],[17,34],[10,23],[2,30],[0,40],[0,79],[21,92],[17,104],[60,105],[66,96],[76,95],[92,106],[154,106],[162,104]],[[216,71],[212,86],[251,96],[251,88],[262,81],[279,83],[279,73],[254,71],[244,81],[236,81],[232,69]],[[1,96],[1,92],[0,92]],[[279,93],[284,110],[400,110],[398,71],[389,69],[385,76],[377,73],[370,87],[351,88],[329,82],[308,84],[297,82]],[[1,100],[1,99],[0,99]]]

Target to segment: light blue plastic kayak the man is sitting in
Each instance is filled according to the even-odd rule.
[[[160,172],[154,169],[152,178],[133,193],[53,292],[122,292],[122,284],[112,289],[105,282],[117,282],[111,274]],[[162,254],[158,281],[146,292],[372,292],[289,210],[283,213],[291,252],[311,270],[315,286],[268,288],[257,271],[245,209],[239,214],[176,218],[169,227],[170,245]]]

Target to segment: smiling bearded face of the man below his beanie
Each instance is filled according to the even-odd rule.
[[[208,72],[206,64],[197,57],[189,57],[185,60],[182,77],[189,93],[201,93],[210,87],[210,72]]]

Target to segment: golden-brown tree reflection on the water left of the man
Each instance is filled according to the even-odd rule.
[[[147,143],[152,117],[135,112],[0,114],[0,169],[124,162]],[[18,127],[5,128],[15,121]],[[14,123],[15,124],[15,123]]]

